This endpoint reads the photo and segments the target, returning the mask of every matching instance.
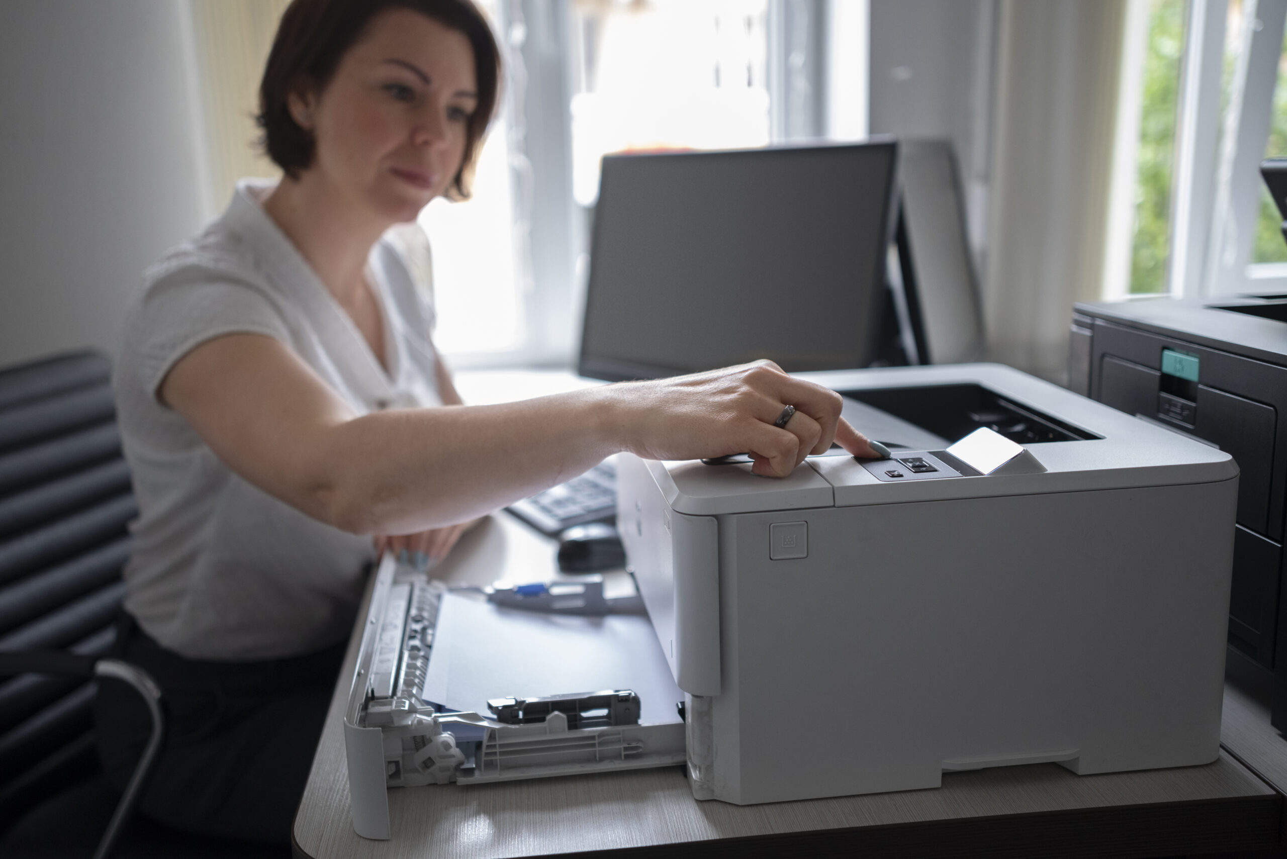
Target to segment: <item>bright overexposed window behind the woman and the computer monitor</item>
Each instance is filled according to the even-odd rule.
[[[505,103],[421,216],[453,366],[566,364],[604,154],[866,134],[865,0],[481,0]]]

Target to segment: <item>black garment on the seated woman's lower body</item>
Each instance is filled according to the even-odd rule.
[[[189,660],[124,615],[116,651],[161,687],[166,718],[139,811],[198,835],[290,844],[345,643],[264,662]],[[103,680],[95,723],[103,770],[124,790],[152,729],[147,707]]]

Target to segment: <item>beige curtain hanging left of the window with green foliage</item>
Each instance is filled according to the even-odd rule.
[[[983,310],[988,354],[1067,377],[1075,301],[1100,296],[1126,4],[1003,0]]]

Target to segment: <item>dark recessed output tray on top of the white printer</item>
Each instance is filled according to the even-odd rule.
[[[1021,445],[1102,437],[1051,415],[1010,402],[981,384],[871,388],[840,391],[840,393],[902,418],[949,441],[964,439],[981,427]]]

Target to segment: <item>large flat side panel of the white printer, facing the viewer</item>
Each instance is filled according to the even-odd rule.
[[[716,799],[1215,760],[1236,495],[1228,480],[722,517]],[[772,526],[801,522],[807,553],[773,559]]]

